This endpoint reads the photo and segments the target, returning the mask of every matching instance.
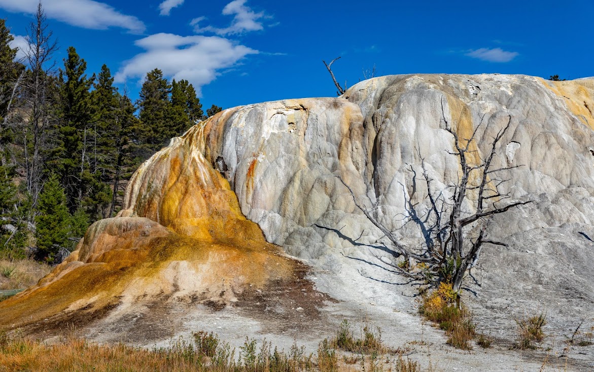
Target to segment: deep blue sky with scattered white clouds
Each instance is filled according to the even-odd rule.
[[[498,72],[548,78],[594,75],[593,0],[560,1],[93,1],[43,0],[58,39],[107,64],[137,98],[152,68],[186,78],[204,106],[229,108],[334,96],[322,59],[348,86],[378,75]],[[23,42],[37,0],[0,0]]]

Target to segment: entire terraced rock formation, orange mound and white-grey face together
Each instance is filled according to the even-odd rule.
[[[499,175],[508,180],[500,191],[533,202],[489,223],[489,237],[508,247],[485,246],[464,300],[502,338],[513,332],[513,314],[537,309],[564,336],[594,316],[593,112],[594,79],[499,74],[390,75],[337,98],[225,110],[144,163],[119,216],[91,226],[39,285],[1,302],[9,315],[0,323],[120,324],[108,329],[112,337],[136,332],[137,319],[187,315],[154,333],[157,340],[210,311],[201,305],[225,308],[221,314],[249,307],[244,324],[293,322],[284,330],[303,320],[286,314],[305,309],[313,323],[326,319],[320,335],[324,322],[363,308],[393,322],[394,311],[414,311],[416,287],[401,285],[390,242],[353,196],[403,245],[424,247],[431,204],[421,163],[432,192],[446,198],[459,178],[445,125],[464,139],[476,130],[473,154],[484,159],[509,121],[494,163],[513,168]],[[272,304],[261,295],[297,287],[307,300],[287,295]]]

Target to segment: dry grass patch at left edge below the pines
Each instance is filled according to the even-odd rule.
[[[0,290],[29,288],[50,270],[48,264],[33,260],[0,260]]]

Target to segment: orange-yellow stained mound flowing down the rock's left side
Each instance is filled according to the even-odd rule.
[[[204,157],[205,130],[220,135],[224,121],[218,120],[228,115],[213,116],[144,163],[118,217],[94,223],[48,276],[0,302],[0,327],[38,326],[72,314],[88,314],[89,321],[123,301],[159,302],[178,290],[228,302],[245,286],[289,278],[295,261],[242,215],[229,182]],[[177,267],[191,270],[178,275]]]

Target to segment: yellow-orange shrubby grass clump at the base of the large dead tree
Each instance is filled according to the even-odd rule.
[[[434,291],[422,295],[419,312],[445,330],[447,343],[464,350],[472,349],[470,341],[475,337],[475,324],[465,307],[457,307],[456,292],[451,284],[440,283]]]

